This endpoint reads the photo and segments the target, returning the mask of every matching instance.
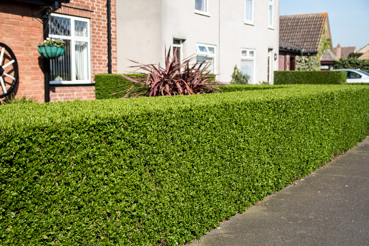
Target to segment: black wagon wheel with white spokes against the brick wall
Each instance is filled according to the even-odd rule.
[[[18,82],[18,63],[11,49],[3,43],[0,43],[0,98],[10,95]]]

